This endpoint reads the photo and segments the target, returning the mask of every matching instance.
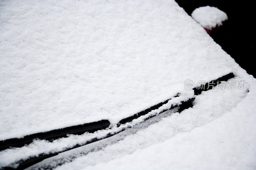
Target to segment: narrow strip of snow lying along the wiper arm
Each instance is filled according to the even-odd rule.
[[[20,148],[11,148],[6,149],[0,152],[0,165],[8,166],[12,165],[15,162],[18,162],[21,159],[26,159],[32,156],[38,156],[41,153],[56,153],[64,151],[66,148],[72,148],[76,144],[85,144],[86,142],[92,140],[93,138],[102,139],[105,138],[109,133],[116,134],[121,132],[123,129],[128,127],[133,127],[143,122],[149,116],[158,115],[164,109],[168,109],[171,106],[181,104],[180,101],[185,101],[186,99],[193,98],[193,91],[187,92],[186,94],[180,94],[179,97],[173,97],[168,103],[159,107],[158,109],[152,110],[147,115],[140,116],[138,119],[133,120],[132,122],[121,125],[120,127],[114,126],[111,129],[98,130],[94,133],[84,133],[83,135],[68,135],[67,138],[59,138],[49,142],[46,140],[34,140],[31,144],[25,145]],[[13,164],[13,167],[16,167],[17,164]],[[1,167],[1,166],[0,166]]]

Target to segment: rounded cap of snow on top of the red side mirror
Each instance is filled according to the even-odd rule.
[[[221,26],[222,22],[228,19],[225,12],[219,10],[217,7],[203,6],[196,8],[192,14],[194,18],[201,26],[207,29]]]

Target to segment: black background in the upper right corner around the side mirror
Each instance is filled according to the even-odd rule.
[[[228,20],[210,34],[224,51],[233,57],[247,73],[255,71],[255,9],[253,1],[176,0],[188,15],[200,6],[214,6],[228,15]]]

